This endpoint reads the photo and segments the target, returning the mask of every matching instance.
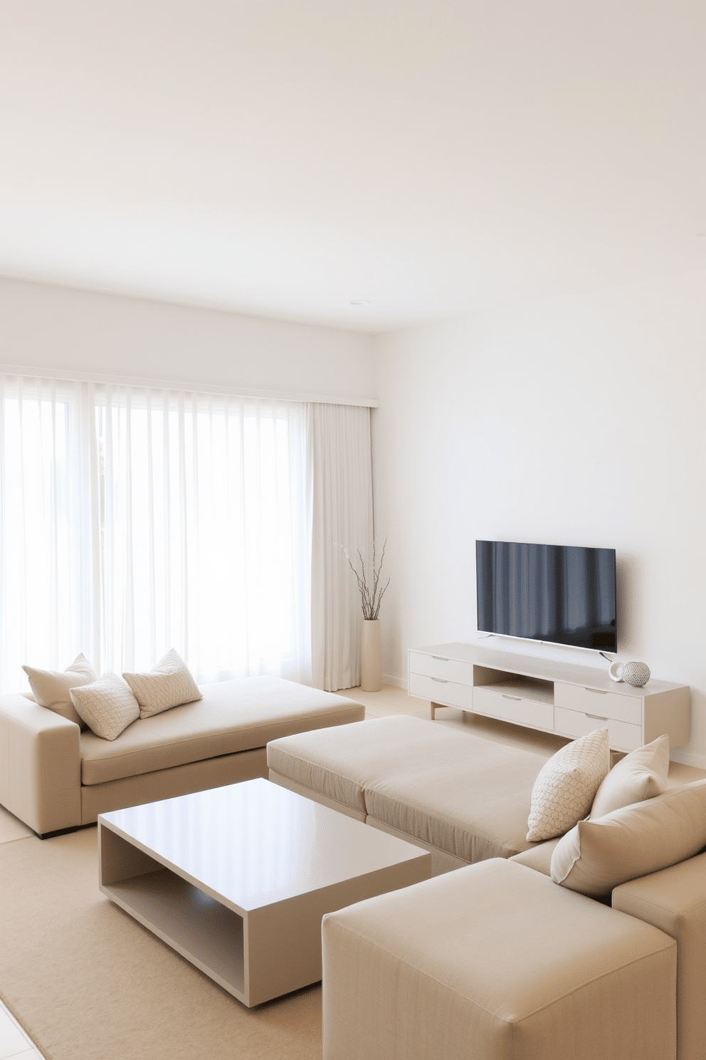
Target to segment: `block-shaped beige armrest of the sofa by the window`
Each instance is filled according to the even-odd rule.
[[[0,803],[39,835],[80,825],[79,737],[53,710],[0,696]]]

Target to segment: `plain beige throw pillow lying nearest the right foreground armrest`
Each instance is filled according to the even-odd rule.
[[[551,879],[604,898],[628,880],[691,858],[706,846],[706,780],[580,820],[551,854]]]

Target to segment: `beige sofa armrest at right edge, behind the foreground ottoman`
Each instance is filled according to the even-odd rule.
[[[706,1041],[706,853],[622,883],[613,908],[676,939],[676,1038],[680,1060],[703,1060]]]

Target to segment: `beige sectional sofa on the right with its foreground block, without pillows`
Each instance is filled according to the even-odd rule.
[[[324,1060],[706,1058],[706,852],[598,900],[560,886],[559,838],[526,838],[545,762],[411,718],[269,745],[271,780],[430,849],[438,873],[324,918]],[[648,800],[665,846],[686,779]],[[645,806],[617,812],[618,849]]]

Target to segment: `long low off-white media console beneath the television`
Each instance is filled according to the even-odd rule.
[[[499,718],[579,737],[608,727],[613,750],[633,750],[663,732],[672,747],[689,742],[689,686],[650,681],[617,684],[605,671],[513,655],[474,644],[433,644],[409,652],[409,691],[436,707]]]

